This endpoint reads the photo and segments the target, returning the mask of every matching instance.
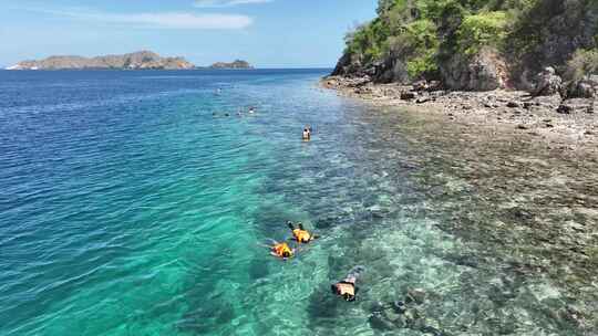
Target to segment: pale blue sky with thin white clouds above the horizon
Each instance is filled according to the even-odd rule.
[[[377,0],[0,0],[0,66],[151,50],[196,65],[333,67]]]

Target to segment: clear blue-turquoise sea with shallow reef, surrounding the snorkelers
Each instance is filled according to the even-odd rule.
[[[596,161],[558,174],[327,73],[0,72],[0,335],[598,334],[595,260],[534,240],[596,220],[596,181],[567,182]],[[321,238],[280,261],[288,220]]]

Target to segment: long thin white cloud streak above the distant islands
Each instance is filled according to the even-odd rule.
[[[251,0],[237,0],[251,1]],[[257,1],[257,0],[252,0]],[[76,20],[96,21],[104,23],[133,24],[142,28],[167,28],[189,30],[227,30],[244,29],[252,23],[252,19],[239,14],[195,14],[187,12],[155,12],[155,13],[110,13],[93,11],[54,11],[29,9],[54,15],[69,17]]]

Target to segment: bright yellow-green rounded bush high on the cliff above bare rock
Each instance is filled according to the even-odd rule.
[[[506,38],[507,15],[503,11],[467,15],[457,30],[457,51],[477,54],[482,46],[502,48]]]

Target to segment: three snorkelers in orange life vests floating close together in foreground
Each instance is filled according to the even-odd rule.
[[[302,223],[295,225],[292,222],[287,222],[287,225],[291,230],[292,238],[298,245],[309,244],[319,238],[313,232],[309,232],[303,228]],[[268,246],[270,254],[280,258],[281,260],[288,260],[295,256],[297,249],[291,248],[287,242],[277,242],[272,240],[272,244]],[[364,271],[363,266],[353,267],[349,274],[341,281],[330,286],[333,294],[341,296],[346,301],[354,301],[358,292],[357,280]]]

